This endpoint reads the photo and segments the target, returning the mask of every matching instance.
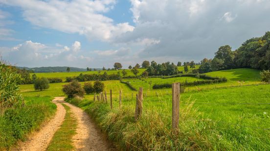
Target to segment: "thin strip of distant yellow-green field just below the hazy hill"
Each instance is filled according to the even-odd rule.
[[[145,69],[138,69],[139,70],[139,75],[142,74]],[[121,73],[122,75],[122,71],[123,70],[110,70],[110,71],[103,71],[101,70],[100,71],[100,74],[104,74],[104,72],[107,72],[108,75],[111,75],[111,74],[117,74],[118,72]],[[47,78],[52,78],[52,77],[57,77],[57,78],[62,78],[63,81],[66,80],[66,77],[69,76],[69,77],[73,77],[73,76],[79,76],[81,73],[82,74],[98,74],[99,71],[83,71],[83,72],[63,72],[63,73],[33,73],[33,74],[36,74],[38,77],[47,77]],[[126,69],[126,72],[127,72],[127,76],[134,76],[134,74]],[[30,74],[30,76],[32,76],[33,74]]]

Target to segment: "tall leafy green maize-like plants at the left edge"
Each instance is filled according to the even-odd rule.
[[[16,70],[0,61],[0,114],[5,107],[22,103],[19,82],[20,75]]]

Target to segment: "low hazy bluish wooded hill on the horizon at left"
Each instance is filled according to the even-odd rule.
[[[35,67],[35,68],[16,67],[16,68],[32,70],[35,73],[67,72],[67,67]],[[86,71],[86,69],[83,69],[83,68],[75,68],[75,67],[69,67],[69,68],[70,68],[70,72]],[[102,69],[97,69],[97,70],[102,70]]]

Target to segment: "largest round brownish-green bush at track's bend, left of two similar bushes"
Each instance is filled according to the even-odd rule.
[[[73,98],[75,96],[83,97],[85,94],[84,89],[77,80],[73,80],[70,83],[63,86],[63,92],[68,98]]]

